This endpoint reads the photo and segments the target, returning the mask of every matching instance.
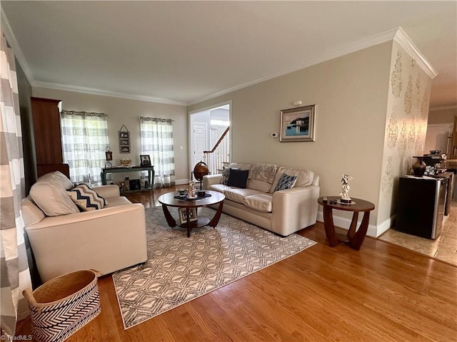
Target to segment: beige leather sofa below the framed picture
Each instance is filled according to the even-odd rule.
[[[229,167],[248,170],[246,188],[221,184],[222,175],[207,175],[203,180],[204,189],[225,195],[226,214],[281,236],[316,223],[320,187],[314,172],[266,163],[231,163]],[[283,174],[296,177],[294,184],[289,189],[275,191]]]

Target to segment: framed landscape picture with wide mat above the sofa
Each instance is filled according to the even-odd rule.
[[[279,141],[316,141],[316,105],[281,110]]]

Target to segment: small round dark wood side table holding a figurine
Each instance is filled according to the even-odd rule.
[[[363,199],[352,198],[355,204],[330,204],[330,201],[340,199],[338,196],[327,196],[327,203],[323,202],[323,197],[317,199],[318,204],[323,206],[323,226],[326,229],[326,236],[330,247],[335,247],[339,242],[347,242],[351,248],[359,250],[368,230],[370,212],[374,209],[374,204]],[[351,226],[348,234],[337,234],[333,225],[333,209],[353,212]],[[363,219],[360,227],[356,230],[358,213],[363,212]]]

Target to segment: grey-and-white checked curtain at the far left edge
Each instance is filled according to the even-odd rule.
[[[2,331],[14,336],[16,321],[29,314],[22,291],[31,288],[31,278],[21,217],[24,155],[16,65],[3,28],[0,31],[0,322]]]

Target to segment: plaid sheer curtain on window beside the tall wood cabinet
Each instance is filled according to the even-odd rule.
[[[64,162],[69,164],[71,181],[100,182],[108,146],[106,114],[62,110],[61,126]]]

